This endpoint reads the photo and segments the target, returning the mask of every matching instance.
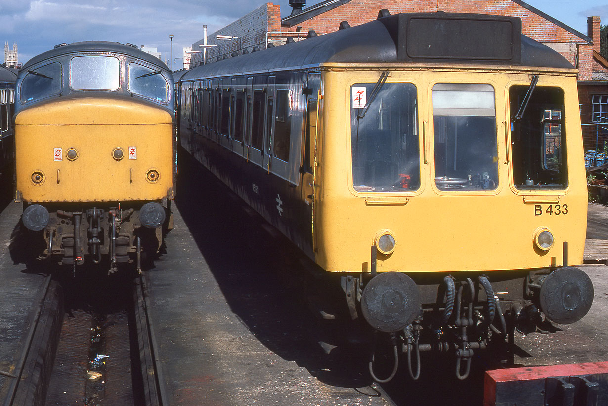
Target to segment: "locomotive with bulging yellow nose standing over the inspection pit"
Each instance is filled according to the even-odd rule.
[[[171,228],[173,94],[167,66],[133,44],[59,44],[21,68],[15,200],[44,239],[35,254],[114,272],[157,253]]]

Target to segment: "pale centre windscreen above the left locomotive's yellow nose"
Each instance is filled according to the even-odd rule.
[[[120,86],[118,58],[89,56],[74,57],[70,61],[72,89],[117,90]]]

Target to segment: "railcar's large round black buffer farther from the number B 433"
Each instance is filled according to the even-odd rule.
[[[363,317],[376,330],[392,333],[404,329],[420,313],[416,282],[398,272],[380,273],[365,286],[361,297]]]

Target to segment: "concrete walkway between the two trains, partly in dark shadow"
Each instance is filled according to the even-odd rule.
[[[207,182],[181,184],[167,253],[145,271],[170,404],[386,405],[309,339],[295,279],[277,275],[289,267],[264,256],[259,224],[248,228],[238,203]]]

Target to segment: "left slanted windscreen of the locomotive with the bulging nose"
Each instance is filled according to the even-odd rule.
[[[21,102],[28,103],[61,92],[61,63],[53,62],[28,69],[21,82]]]

